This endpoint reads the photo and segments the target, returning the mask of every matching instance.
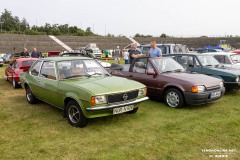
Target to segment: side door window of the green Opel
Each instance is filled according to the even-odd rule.
[[[54,62],[52,61],[43,62],[40,77],[53,79],[53,80],[56,79]]]

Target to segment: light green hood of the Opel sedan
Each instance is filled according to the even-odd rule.
[[[87,90],[94,95],[126,92],[145,87],[145,85],[139,82],[115,76],[71,79],[62,82],[67,85]]]

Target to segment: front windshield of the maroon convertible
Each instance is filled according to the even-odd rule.
[[[159,72],[184,71],[184,68],[172,58],[151,58]]]

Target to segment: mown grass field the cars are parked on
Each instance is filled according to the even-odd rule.
[[[0,67],[0,159],[239,159],[240,93],[202,106],[172,109],[157,101],[136,114],[89,120],[74,128],[62,112],[30,105]],[[229,149],[232,152],[208,152]],[[213,159],[213,158],[211,158]],[[214,158],[215,159],[215,158]]]

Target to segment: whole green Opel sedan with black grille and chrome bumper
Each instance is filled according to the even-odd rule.
[[[86,126],[88,118],[135,113],[148,100],[145,85],[112,76],[87,57],[39,59],[20,81],[30,104],[42,100],[62,109],[75,127]]]

